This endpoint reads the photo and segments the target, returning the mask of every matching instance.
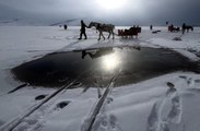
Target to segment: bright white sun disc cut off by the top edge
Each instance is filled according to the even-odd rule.
[[[127,0],[96,0],[96,2],[104,10],[117,10],[127,4]]]

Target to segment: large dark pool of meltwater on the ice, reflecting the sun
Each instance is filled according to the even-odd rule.
[[[77,80],[77,87],[137,83],[173,71],[193,71],[196,64],[168,49],[98,48],[54,52],[12,69],[14,78],[35,86],[56,87]]]

